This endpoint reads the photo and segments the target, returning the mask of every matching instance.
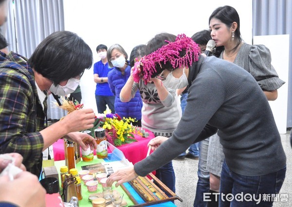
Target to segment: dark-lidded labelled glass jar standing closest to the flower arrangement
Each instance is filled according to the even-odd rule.
[[[108,143],[106,132],[103,128],[94,129],[94,136],[97,144],[96,155],[98,159],[108,157]]]

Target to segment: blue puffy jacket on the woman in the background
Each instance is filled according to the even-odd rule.
[[[140,92],[137,91],[135,97],[129,102],[121,102],[120,92],[125,86],[128,78],[130,77],[131,67],[127,66],[125,69],[125,74],[123,75],[119,68],[114,68],[110,70],[108,74],[108,83],[110,90],[115,96],[114,109],[115,112],[120,117],[131,117],[136,118],[136,120],[141,120],[141,109],[142,109],[142,99]]]

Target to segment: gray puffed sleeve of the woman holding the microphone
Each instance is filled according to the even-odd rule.
[[[249,51],[250,73],[263,90],[272,91],[281,87],[282,81],[271,64],[271,52],[264,45],[253,45]]]

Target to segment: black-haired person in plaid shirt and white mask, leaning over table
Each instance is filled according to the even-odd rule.
[[[42,152],[59,138],[96,148],[94,138],[79,132],[93,127],[92,109],[76,110],[44,129],[47,91],[72,93],[91,64],[90,47],[68,31],[49,35],[28,60],[0,52],[0,154],[19,153],[27,171],[39,176]]]

